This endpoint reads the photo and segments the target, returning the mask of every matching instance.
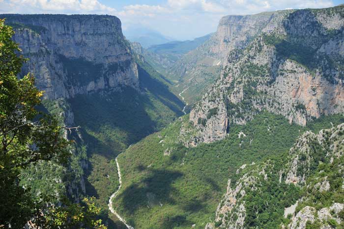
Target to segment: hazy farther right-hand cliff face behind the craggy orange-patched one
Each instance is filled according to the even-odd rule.
[[[192,104],[201,98],[220,74],[228,53],[243,49],[260,33],[271,32],[281,24],[288,11],[223,17],[216,33],[199,48],[184,55],[171,70],[179,78],[179,91]]]

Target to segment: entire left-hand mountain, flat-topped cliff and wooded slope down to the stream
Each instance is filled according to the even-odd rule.
[[[130,144],[182,115],[183,102],[142,56],[131,50],[115,16],[0,15],[15,30],[24,57],[45,91],[41,109],[62,126],[81,128],[67,168],[39,163],[21,180],[32,195],[95,196],[110,229],[123,225],[108,211],[119,185],[115,157]],[[19,76],[21,77],[21,75]],[[45,179],[42,179],[44,177]],[[57,182],[59,181],[59,182]],[[115,223],[114,223],[115,221]]]

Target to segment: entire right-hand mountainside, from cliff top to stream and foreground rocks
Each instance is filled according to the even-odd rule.
[[[225,18],[253,24],[211,49],[189,115],[118,157],[114,208],[140,229],[342,228],[344,7]]]

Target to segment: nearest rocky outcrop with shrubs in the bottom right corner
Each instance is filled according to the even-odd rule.
[[[343,149],[344,124],[341,124],[318,134],[311,131],[302,134],[286,156],[287,163],[268,160],[262,164],[242,165],[237,170],[240,178],[234,185],[230,180],[228,182],[227,192],[216,209],[214,223],[208,223],[205,229],[264,228],[252,224],[266,214],[273,215],[274,220],[291,214],[289,220],[279,225],[284,229],[343,226],[344,204],[338,202],[343,201]],[[280,205],[274,211],[268,210],[269,206],[287,198],[295,187],[302,192],[288,198],[288,207]],[[275,191],[279,189],[278,194]],[[271,199],[274,194],[279,197]],[[298,206],[302,207],[298,209]],[[280,213],[276,214],[277,211]],[[265,225],[269,223],[265,222]]]

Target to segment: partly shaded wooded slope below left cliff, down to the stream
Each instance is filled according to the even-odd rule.
[[[147,63],[136,61],[141,91],[127,87],[68,100],[75,123],[82,127],[80,144],[87,146],[86,193],[97,197],[104,219],[109,197],[119,185],[115,157],[130,144],[173,122],[182,114],[184,105],[158,72]],[[115,218],[113,214],[110,217]],[[116,227],[120,224],[109,225]]]

